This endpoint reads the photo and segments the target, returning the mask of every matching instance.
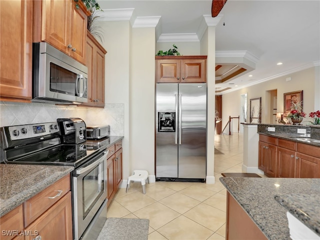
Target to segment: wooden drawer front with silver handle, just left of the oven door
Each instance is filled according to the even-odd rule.
[[[24,227],[70,191],[70,174],[62,177],[23,203]]]

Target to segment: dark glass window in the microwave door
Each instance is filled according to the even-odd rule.
[[[50,62],[50,91],[76,96],[77,74]]]

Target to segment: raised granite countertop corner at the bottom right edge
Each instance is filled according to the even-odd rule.
[[[320,194],[278,194],[274,198],[293,216],[320,236]]]

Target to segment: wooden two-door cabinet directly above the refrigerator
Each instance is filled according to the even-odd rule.
[[[156,82],[206,82],[206,56],[155,56]]]

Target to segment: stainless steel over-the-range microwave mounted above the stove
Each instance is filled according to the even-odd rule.
[[[32,102],[87,102],[87,67],[46,42],[32,44]]]

